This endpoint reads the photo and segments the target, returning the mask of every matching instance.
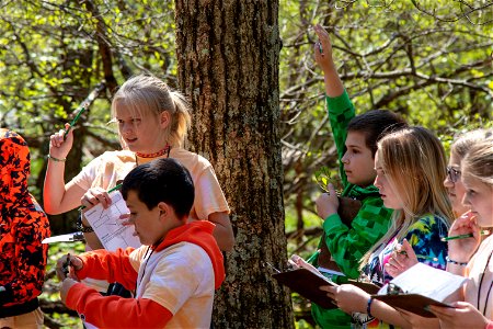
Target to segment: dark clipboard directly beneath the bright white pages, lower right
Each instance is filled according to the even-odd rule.
[[[425,309],[428,305],[452,307],[448,304],[419,294],[374,295],[372,297],[394,308],[401,308],[425,318],[435,318],[433,313]]]

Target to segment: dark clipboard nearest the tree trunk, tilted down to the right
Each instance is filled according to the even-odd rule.
[[[336,286],[337,284],[324,280],[307,269],[275,273],[272,274],[272,277],[323,308],[337,308],[337,306],[332,304],[332,299],[328,297],[326,292],[320,290],[322,285]]]

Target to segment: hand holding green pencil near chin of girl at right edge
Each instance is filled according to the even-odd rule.
[[[467,263],[481,243],[481,232],[475,216],[471,212],[465,213],[451,225],[448,236],[473,234],[471,238],[448,241],[448,257],[457,262]]]

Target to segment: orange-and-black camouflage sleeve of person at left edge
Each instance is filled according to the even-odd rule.
[[[12,280],[4,285],[0,304],[24,303],[42,293],[49,237],[49,224],[45,214],[32,212],[26,220],[16,225],[15,260],[11,262]]]

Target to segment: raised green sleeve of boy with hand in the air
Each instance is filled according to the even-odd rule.
[[[336,98],[325,98],[329,120],[331,123],[332,135],[334,136],[335,147],[337,149],[339,167],[343,185],[347,185],[347,178],[341,161],[345,152],[345,143],[347,136],[347,125],[355,116],[353,102],[344,90],[344,93]]]

